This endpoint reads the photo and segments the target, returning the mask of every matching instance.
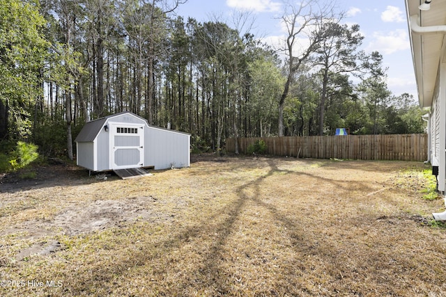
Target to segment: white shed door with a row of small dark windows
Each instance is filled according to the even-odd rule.
[[[144,125],[109,122],[112,169],[144,166]]]

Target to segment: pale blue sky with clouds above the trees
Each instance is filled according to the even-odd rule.
[[[392,93],[409,93],[417,98],[404,1],[337,0],[337,8],[346,12],[345,23],[360,25],[364,35],[362,49],[383,55],[384,66],[388,67],[387,86]],[[188,0],[176,13],[185,19],[194,17],[199,22],[217,19],[232,26],[234,12],[249,11],[250,32],[274,43],[286,35],[279,19],[283,9],[282,0]]]

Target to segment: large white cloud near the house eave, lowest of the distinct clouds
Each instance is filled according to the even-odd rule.
[[[367,51],[379,51],[380,54],[393,54],[396,51],[410,49],[406,30],[374,32],[373,41],[367,46]]]

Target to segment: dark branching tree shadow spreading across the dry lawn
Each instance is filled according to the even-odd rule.
[[[199,289],[201,292],[208,292],[209,296],[236,294],[236,292],[233,291],[233,280],[229,280],[229,278],[231,278],[231,273],[234,272],[227,271],[226,268],[222,267],[222,261],[224,261],[222,258],[224,257],[224,248],[230,244],[231,234],[236,231],[236,222],[240,216],[243,215],[243,211],[247,208],[248,203],[253,203],[257,207],[266,209],[274,220],[277,220],[277,222],[286,226],[286,229],[289,230],[287,232],[289,241],[298,255],[318,255],[323,261],[335,261],[335,257],[327,254],[327,247],[321,248],[320,246],[321,242],[326,243],[326,241],[316,243],[314,241],[314,236],[307,236],[302,225],[299,223],[299,218],[291,218],[289,215],[285,214],[284,211],[275,206],[275,204],[261,200],[261,187],[266,178],[272,177],[277,173],[283,175],[284,178],[289,175],[307,175],[319,180],[321,183],[334,184],[337,188],[342,188],[347,191],[348,188],[346,188],[344,182],[312,175],[308,172],[281,170],[277,167],[274,160],[267,160],[267,163],[268,172],[239,186],[237,188],[238,195],[233,202],[226,204],[226,206],[221,209],[216,209],[211,216],[203,217],[198,224],[180,227],[180,229],[171,234],[167,240],[151,243],[147,246],[141,246],[140,250],[132,250],[132,257],[128,257],[126,261],[116,261],[112,267],[103,267],[99,262],[95,267],[95,270],[90,271],[89,278],[79,277],[79,280],[82,280],[83,283],[80,282],[74,284],[74,287],[68,291],[73,295],[91,294],[89,289],[86,288],[94,287],[95,284],[100,281],[102,287],[108,287],[108,289],[105,289],[106,291],[113,292],[114,289],[116,289],[114,288],[114,280],[116,277],[120,275],[125,277],[130,268],[152,266],[153,262],[165,261],[167,258],[171,257],[173,252],[180,250],[185,245],[189,244],[191,240],[199,242],[201,239],[207,239],[208,241],[212,241],[208,242],[207,250],[200,250],[200,248],[195,250],[197,254],[201,255],[201,263],[192,266],[192,271],[189,270],[190,268],[183,268],[185,270],[183,271],[183,274],[194,276],[191,276],[190,278],[177,278],[176,283],[171,284],[171,288],[157,287],[157,292],[161,296],[169,296],[171,294],[187,296],[192,295],[192,291]],[[362,186],[367,188],[365,183]],[[248,191],[250,191],[249,194]],[[209,232],[212,232],[213,236],[205,234]],[[154,250],[157,249],[157,246],[162,247],[162,252],[154,252]],[[293,261],[298,262],[298,259],[293,259]],[[153,266],[151,269],[148,269],[148,271],[153,271],[152,277],[156,278],[157,276],[162,276],[164,273],[167,273],[166,270],[173,268],[173,266],[174,264],[167,264],[161,268]],[[286,275],[285,278],[291,283],[295,282],[293,280],[293,274],[295,272],[295,268],[289,268],[289,271],[286,271],[288,275]],[[151,278],[151,275],[148,275],[147,277]],[[194,284],[191,284],[191,281],[193,281]],[[149,287],[156,286],[156,284],[148,285]],[[279,288],[276,288],[276,291],[282,289],[282,293],[285,293],[285,289],[289,289],[289,287],[280,288],[282,285],[283,284],[278,284]],[[296,288],[296,292],[297,291],[298,288]]]

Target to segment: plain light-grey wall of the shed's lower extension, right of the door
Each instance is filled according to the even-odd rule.
[[[149,127],[146,130],[146,159],[155,169],[190,166],[190,136],[175,131]],[[162,145],[160,145],[162,144]]]

